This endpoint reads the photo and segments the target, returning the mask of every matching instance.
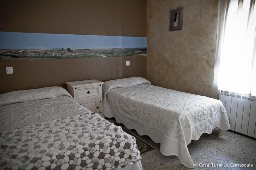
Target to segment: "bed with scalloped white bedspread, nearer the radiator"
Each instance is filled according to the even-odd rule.
[[[160,143],[163,155],[176,155],[194,167],[187,145],[216,127],[230,128],[221,101],[151,85],[141,77],[111,80],[103,86],[104,115]],[[223,131],[221,131],[223,133]]]

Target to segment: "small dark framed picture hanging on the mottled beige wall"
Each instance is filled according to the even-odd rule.
[[[170,31],[182,30],[182,11],[183,7],[170,10]]]

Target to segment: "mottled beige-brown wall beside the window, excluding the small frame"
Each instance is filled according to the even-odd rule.
[[[169,32],[171,8],[183,29]],[[212,87],[218,0],[148,0],[147,77],[153,85],[218,98]]]

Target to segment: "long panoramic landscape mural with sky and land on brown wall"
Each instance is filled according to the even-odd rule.
[[[147,54],[146,37],[0,32],[0,60]]]

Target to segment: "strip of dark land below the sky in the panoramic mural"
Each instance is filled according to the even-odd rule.
[[[143,56],[146,48],[0,50],[0,60]]]

